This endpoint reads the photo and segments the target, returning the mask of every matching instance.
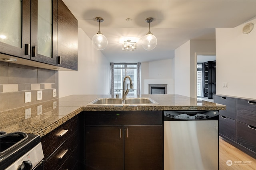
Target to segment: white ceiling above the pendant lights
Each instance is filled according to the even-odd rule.
[[[256,0],[63,0],[78,20],[78,27],[92,39],[99,31],[94,19],[102,17],[100,31],[108,39],[101,52],[114,63],[170,59],[188,40],[214,40],[216,27],[236,27],[256,16]],[[150,31],[158,43],[152,51],[140,40]],[[132,19],[126,21],[127,18]],[[122,43],[137,42],[134,51],[122,51]]]

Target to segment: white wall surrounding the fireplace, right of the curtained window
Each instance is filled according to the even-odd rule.
[[[141,63],[141,94],[148,94],[148,84],[168,84],[167,93],[174,94],[174,59]]]

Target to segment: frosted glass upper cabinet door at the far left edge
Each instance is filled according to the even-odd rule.
[[[0,52],[30,59],[30,1],[0,0]]]

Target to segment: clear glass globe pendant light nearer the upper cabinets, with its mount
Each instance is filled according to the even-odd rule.
[[[108,45],[107,38],[100,32],[100,23],[103,22],[103,18],[95,18],[99,22],[99,32],[92,37],[92,45],[97,50],[104,50]]]

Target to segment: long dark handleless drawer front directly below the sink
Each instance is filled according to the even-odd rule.
[[[162,125],[162,111],[86,111],[86,125]]]

